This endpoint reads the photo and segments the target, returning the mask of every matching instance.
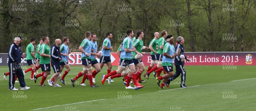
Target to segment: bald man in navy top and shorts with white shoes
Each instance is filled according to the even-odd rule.
[[[61,87],[61,85],[58,85],[58,75],[61,72],[60,60],[62,60],[61,51],[60,51],[59,46],[61,46],[61,40],[56,39],[55,44],[52,45],[52,48],[51,48],[51,59],[52,59],[51,65],[52,65],[54,74],[52,75],[52,77],[49,80],[47,80],[47,82],[50,86],[52,86],[52,79],[55,78],[55,83],[54,83],[53,87]]]

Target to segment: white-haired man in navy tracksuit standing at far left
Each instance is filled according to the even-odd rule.
[[[20,66],[21,62],[21,50],[20,50],[20,38],[16,37],[14,39],[14,42],[8,49],[8,56],[9,56],[9,90],[18,90],[14,87],[15,84],[15,75],[17,75],[19,82],[20,82],[20,90],[26,90],[29,89],[29,87],[26,87],[26,83],[24,81],[24,75],[22,68]]]

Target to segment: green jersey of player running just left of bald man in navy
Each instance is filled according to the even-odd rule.
[[[50,55],[51,48],[47,44],[42,44],[40,47],[40,54],[47,54]],[[51,62],[50,57],[42,57],[40,56],[40,64],[49,64]]]

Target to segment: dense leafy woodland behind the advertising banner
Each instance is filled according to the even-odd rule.
[[[186,51],[255,51],[255,7],[255,0],[0,0],[0,53],[14,37],[23,37],[25,51],[30,37],[45,35],[51,45],[70,37],[78,51],[86,31],[97,35],[99,50],[112,32],[116,52],[129,28],[144,32],[145,46],[166,30],[184,37]]]

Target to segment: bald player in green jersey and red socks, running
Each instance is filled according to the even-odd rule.
[[[151,64],[148,66],[147,71],[150,71],[151,68],[154,67],[155,63],[157,63],[157,44],[158,44],[158,39],[159,39],[159,33],[155,32],[154,33],[154,39],[151,40],[149,43],[148,48],[151,50]],[[155,72],[154,72],[155,75]],[[146,78],[146,74],[144,74],[144,77]]]

